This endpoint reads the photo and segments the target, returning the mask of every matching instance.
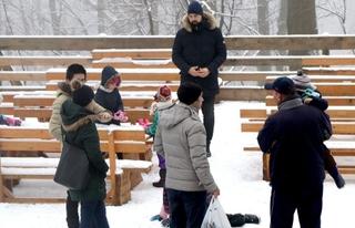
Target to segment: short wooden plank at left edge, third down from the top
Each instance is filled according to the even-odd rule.
[[[45,81],[45,72],[43,71],[0,71],[0,81]]]

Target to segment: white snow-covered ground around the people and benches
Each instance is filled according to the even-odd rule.
[[[268,227],[270,186],[262,180],[261,154],[246,153],[242,145],[251,143],[252,135],[241,134],[239,110],[260,105],[246,102],[222,102],[215,105],[215,135],[212,143],[210,164],[221,188],[220,200],[226,213],[251,213],[262,218],[260,225],[244,227]],[[158,214],[162,203],[162,189],[152,187],[158,179],[158,160],[144,180],[132,191],[132,200],[119,207],[106,207],[110,226],[123,228],[158,228],[150,217]],[[64,195],[64,189],[52,183],[21,182],[18,195]],[[355,182],[348,180],[344,189],[337,189],[327,178],[324,188],[322,215],[323,228],[355,227]],[[0,204],[1,228],[63,228],[65,208],[57,205]],[[294,228],[298,228],[295,216]]]

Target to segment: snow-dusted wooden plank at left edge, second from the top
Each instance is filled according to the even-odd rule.
[[[91,56],[0,56],[0,66],[7,65],[51,65],[51,66],[67,66],[72,63],[89,65]]]

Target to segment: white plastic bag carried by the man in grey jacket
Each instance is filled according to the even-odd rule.
[[[217,198],[212,197],[201,228],[232,228]]]

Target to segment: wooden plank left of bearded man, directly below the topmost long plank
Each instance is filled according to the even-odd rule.
[[[93,60],[103,58],[170,59],[171,49],[94,49],[91,55]]]

